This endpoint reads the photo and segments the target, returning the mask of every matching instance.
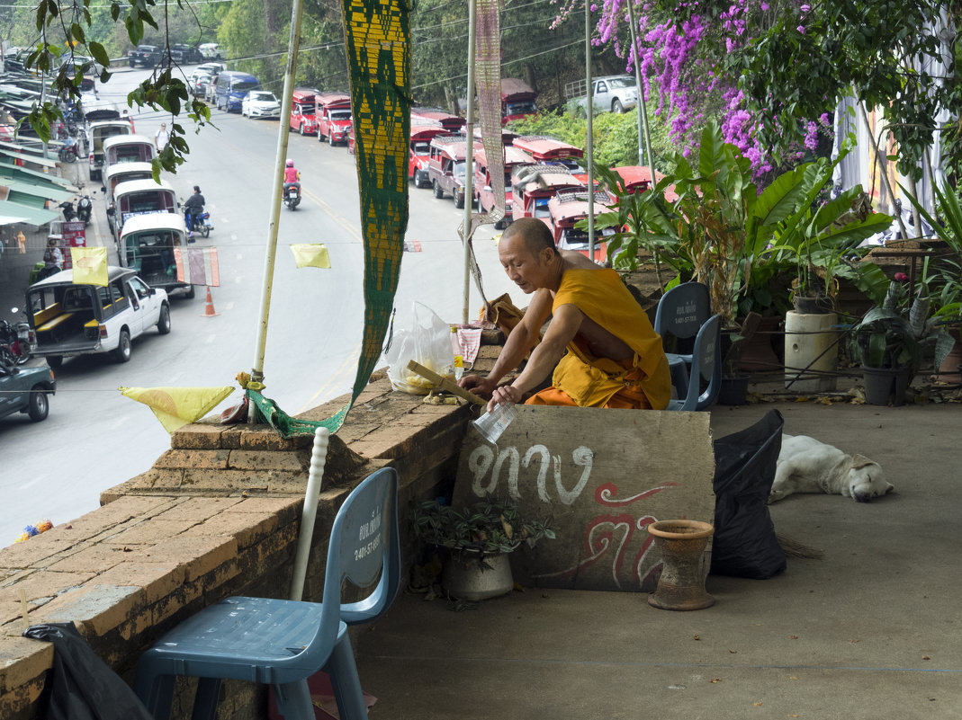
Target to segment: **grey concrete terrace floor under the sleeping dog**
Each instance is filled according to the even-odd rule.
[[[355,650],[370,717],[957,718],[962,716],[958,405],[780,403],[712,411],[715,437],[777,408],[880,462],[870,504],[799,495],[779,534],[823,559],[757,581],[710,576],[712,608],[637,593],[527,589],[453,612],[402,592]]]

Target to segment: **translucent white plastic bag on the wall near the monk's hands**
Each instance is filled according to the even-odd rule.
[[[415,360],[443,377],[454,378],[454,353],[451,351],[451,327],[434,310],[414,304],[414,328],[394,333],[388,360],[388,378],[395,390],[412,395],[427,395],[434,384],[408,369]]]

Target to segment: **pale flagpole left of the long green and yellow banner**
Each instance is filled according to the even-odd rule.
[[[291,95],[294,88],[294,71],[297,68],[297,49],[300,45],[301,14],[303,0],[293,0],[291,7],[291,38],[288,40],[288,66],[284,71],[284,92],[281,99],[281,121],[277,126],[277,155],[274,172],[274,195],[271,198],[270,219],[267,222],[267,247],[264,262],[264,283],[261,288],[261,316],[257,325],[257,346],[254,352],[254,367],[251,380],[260,383],[264,380],[264,354],[267,343],[267,321],[270,317],[270,291],[274,280],[274,256],[277,253],[277,225],[281,215],[281,188],[284,186],[284,161],[288,155],[288,125],[291,117]],[[253,423],[256,412],[248,413],[248,421]]]

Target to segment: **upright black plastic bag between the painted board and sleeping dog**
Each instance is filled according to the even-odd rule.
[[[778,410],[740,433],[715,440],[715,536],[712,572],[771,578],[785,569],[768,498],[785,421]]]

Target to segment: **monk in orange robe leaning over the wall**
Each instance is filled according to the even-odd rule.
[[[519,403],[552,368],[552,385],[531,396],[527,405],[654,410],[668,406],[671,376],[661,337],[615,270],[599,267],[579,253],[558,251],[544,222],[531,217],[508,227],[497,253],[508,277],[534,297],[488,377],[461,379],[463,387],[491,395],[488,410]],[[535,347],[549,316],[544,339]],[[515,381],[498,386],[529,352]]]

